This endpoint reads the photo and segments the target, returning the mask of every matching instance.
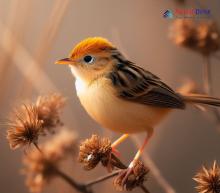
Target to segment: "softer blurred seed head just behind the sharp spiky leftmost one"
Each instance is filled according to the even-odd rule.
[[[53,128],[63,125],[60,111],[65,105],[65,98],[59,94],[40,96],[36,101],[38,117],[43,121],[43,128],[53,132]]]

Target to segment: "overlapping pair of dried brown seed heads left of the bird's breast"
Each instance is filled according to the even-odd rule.
[[[53,132],[62,125],[60,110],[65,99],[59,94],[38,97],[36,104],[24,104],[15,109],[7,123],[7,139],[12,149],[34,144],[45,131]]]

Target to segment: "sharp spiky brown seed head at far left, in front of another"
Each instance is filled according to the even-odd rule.
[[[16,109],[9,121],[7,139],[12,149],[37,143],[43,134],[42,121],[38,119],[37,108],[33,105],[22,105]]]

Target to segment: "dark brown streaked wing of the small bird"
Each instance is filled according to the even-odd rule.
[[[164,108],[184,108],[181,96],[163,83],[157,76],[134,65],[118,64],[108,77],[118,96],[132,102]]]

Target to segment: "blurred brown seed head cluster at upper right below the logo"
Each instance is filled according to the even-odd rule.
[[[210,55],[220,48],[220,31],[215,22],[176,19],[170,29],[172,41],[182,47]]]

